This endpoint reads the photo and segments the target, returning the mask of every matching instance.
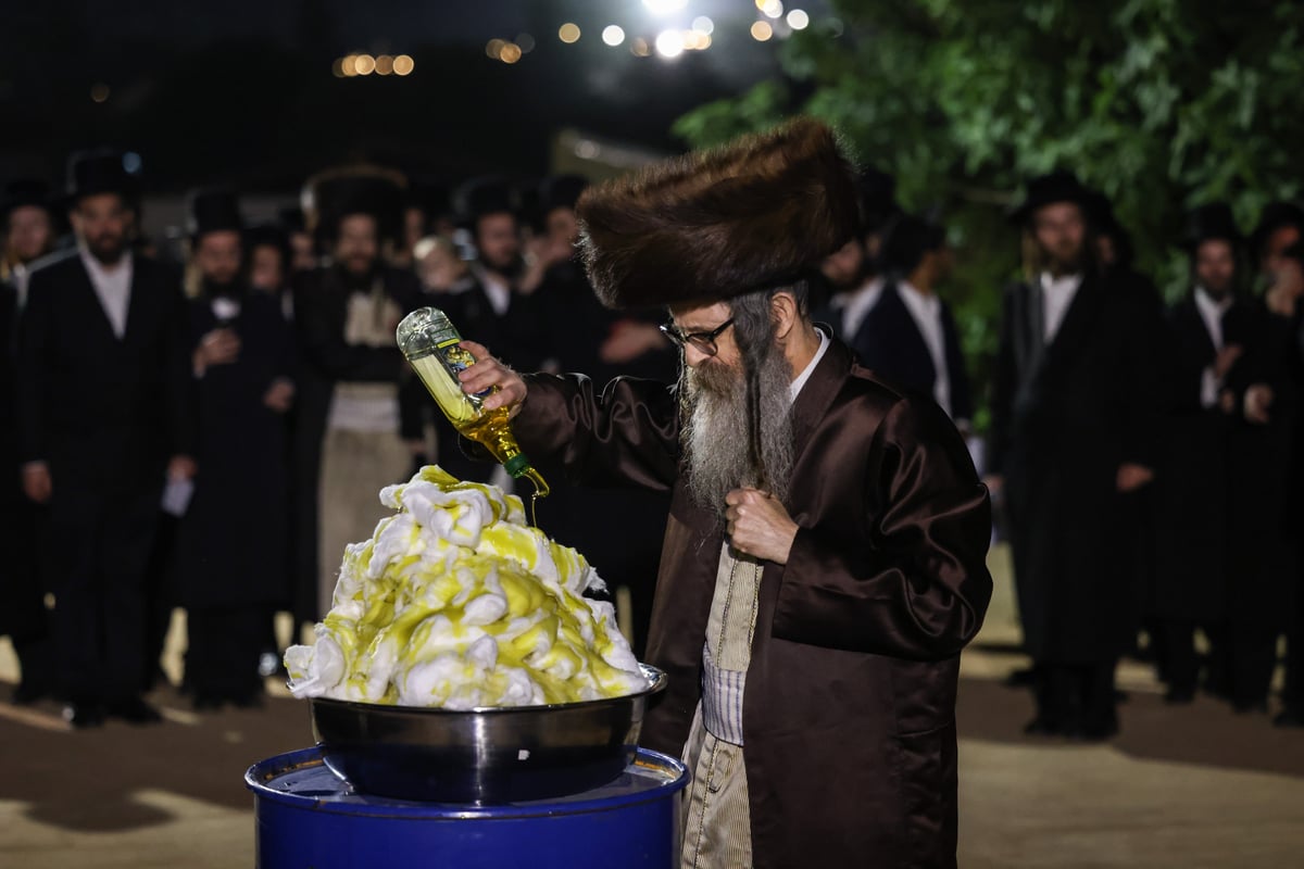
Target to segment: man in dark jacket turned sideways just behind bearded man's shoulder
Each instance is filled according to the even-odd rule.
[[[947,233],[902,215],[883,240],[887,280],[861,328],[849,337],[861,365],[931,396],[968,431],[973,420],[969,377],[951,307],[936,285],[951,274]]]

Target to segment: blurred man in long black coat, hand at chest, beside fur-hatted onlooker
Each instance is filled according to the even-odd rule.
[[[177,538],[194,707],[259,702],[259,653],[288,602],[286,414],[293,336],[279,300],[245,276],[236,198],[190,199],[189,335],[196,378],[194,496]]]

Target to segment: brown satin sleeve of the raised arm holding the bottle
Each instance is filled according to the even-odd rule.
[[[669,490],[679,470],[679,408],[659,380],[531,374],[511,427],[522,448],[562,464],[571,482]]]

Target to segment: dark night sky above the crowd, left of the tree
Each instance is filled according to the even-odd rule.
[[[801,5],[827,14],[820,1]],[[490,171],[537,176],[550,168],[561,129],[681,150],[669,132],[674,119],[777,70],[778,40],[748,34],[752,0],[687,0],[662,16],[643,0],[3,0],[0,8],[0,180],[57,178],[70,150],[99,145],[141,154],[154,192],[211,182],[289,190],[355,159],[442,181]],[[631,53],[635,36],[651,42],[698,16],[715,22],[708,51],[674,61]],[[579,42],[558,39],[565,22],[580,27]],[[627,34],[615,48],[600,36],[612,23]],[[519,34],[536,43],[519,63],[486,56],[489,39]],[[407,53],[415,69],[338,78],[333,63],[351,52]]]

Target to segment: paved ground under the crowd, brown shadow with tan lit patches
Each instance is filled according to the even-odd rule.
[[[1026,739],[1030,698],[999,681],[1022,663],[1015,640],[1001,582],[960,693],[962,866],[1304,866],[1304,731],[1204,698],[1168,707],[1131,664],[1116,741]],[[12,680],[7,651],[0,680]],[[162,726],[70,732],[53,705],[0,700],[0,866],[253,864],[241,775],[310,744],[305,706],[273,697],[263,710],[196,715],[172,691],[155,701]]]

